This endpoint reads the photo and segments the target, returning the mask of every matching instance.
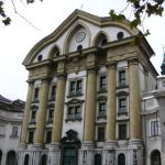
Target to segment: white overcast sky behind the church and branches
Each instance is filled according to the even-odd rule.
[[[0,95],[11,99],[25,100],[28,91],[28,72],[22,62],[33,45],[52,33],[75,9],[98,16],[108,16],[110,9],[121,11],[127,0],[44,0],[26,6],[25,0],[3,0],[12,19],[9,26],[0,24]],[[14,12],[16,9],[16,14]],[[130,16],[131,10],[127,11]],[[23,19],[25,18],[25,19]],[[26,20],[26,21],[25,21]],[[29,23],[28,23],[29,22]],[[153,65],[160,73],[165,45],[165,16],[146,19],[145,29],[150,29],[147,41],[155,52]]]

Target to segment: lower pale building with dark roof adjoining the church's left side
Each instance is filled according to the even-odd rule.
[[[0,95],[0,165],[16,165],[25,102]]]

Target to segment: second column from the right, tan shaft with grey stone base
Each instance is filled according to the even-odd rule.
[[[117,64],[108,66],[107,132],[103,148],[103,164],[114,164],[116,160],[116,118],[117,118]]]

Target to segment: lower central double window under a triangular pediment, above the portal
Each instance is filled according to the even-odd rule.
[[[81,118],[80,106],[72,106],[68,108],[68,120],[79,120]]]

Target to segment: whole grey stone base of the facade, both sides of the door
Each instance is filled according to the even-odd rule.
[[[144,145],[141,140],[107,141],[102,148],[96,148],[94,142],[84,142],[78,150],[78,164],[120,165],[120,156],[124,157],[125,165],[144,165]],[[40,165],[42,156],[46,155],[47,165],[62,164],[62,151],[58,143],[52,143],[44,148],[34,144],[32,147],[20,146],[19,165],[24,165],[25,155],[29,154],[29,165]]]

